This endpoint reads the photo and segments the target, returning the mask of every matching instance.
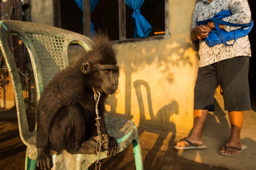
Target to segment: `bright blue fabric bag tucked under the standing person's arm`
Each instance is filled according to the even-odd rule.
[[[246,24],[235,24],[235,23],[230,23],[230,22],[221,20],[230,15],[232,15],[230,10],[224,10],[224,11],[221,11],[221,12],[217,13],[216,15],[214,15],[214,17],[208,19],[210,21],[213,21],[214,26],[215,26],[215,29],[212,30],[209,33],[208,37],[205,38],[205,40],[204,40],[209,47],[212,47],[214,45],[221,44],[221,43],[223,43],[227,46],[234,45],[237,38],[246,36],[252,30],[253,20],[251,20],[250,23],[246,23]],[[206,25],[208,20],[198,21],[197,25],[198,26]],[[227,32],[225,30],[221,30],[219,27],[219,24],[228,25],[228,26],[232,26],[232,27],[242,27],[242,28]],[[234,39],[234,44],[227,44],[227,41],[230,41],[232,39]]]

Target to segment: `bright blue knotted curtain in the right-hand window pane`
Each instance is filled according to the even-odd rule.
[[[148,37],[149,33],[152,31],[151,25],[140,13],[140,8],[144,1],[145,0],[125,0],[126,5],[133,10],[132,22],[135,23],[134,38]]]

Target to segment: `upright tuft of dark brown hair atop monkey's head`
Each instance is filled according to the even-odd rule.
[[[86,41],[90,51],[85,53],[84,59],[89,63],[116,65],[116,48],[110,42],[108,35],[103,32],[95,33],[92,41]]]

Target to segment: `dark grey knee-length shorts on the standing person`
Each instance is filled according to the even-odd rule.
[[[234,57],[200,67],[194,89],[194,109],[214,111],[214,92],[221,85],[225,110],[250,110],[248,73],[248,56]]]

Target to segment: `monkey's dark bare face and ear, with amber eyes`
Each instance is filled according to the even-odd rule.
[[[115,93],[118,86],[119,67],[117,65],[105,64],[97,65],[92,68],[91,64],[84,61],[81,66],[81,71],[85,74],[90,74],[93,79],[91,85],[96,91],[106,94]]]

